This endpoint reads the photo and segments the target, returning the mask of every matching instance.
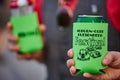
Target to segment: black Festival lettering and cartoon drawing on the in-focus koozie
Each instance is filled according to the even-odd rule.
[[[99,35],[99,37],[102,37],[102,34]],[[84,46],[84,48],[79,50],[77,59],[86,61],[90,60],[90,58],[101,57],[100,50],[102,50],[102,46],[105,46],[105,37],[101,40],[95,40],[93,36],[91,38],[88,37],[88,39],[81,39],[80,35],[80,37],[75,37],[75,39],[75,45]]]

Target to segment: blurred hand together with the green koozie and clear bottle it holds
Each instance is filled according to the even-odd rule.
[[[9,40],[17,42],[17,45],[11,46],[10,50],[19,52],[20,59],[42,59],[45,26],[38,23],[38,15],[33,11],[32,2],[24,1],[22,6],[17,1],[11,2],[12,26],[8,27],[12,27],[13,37]]]

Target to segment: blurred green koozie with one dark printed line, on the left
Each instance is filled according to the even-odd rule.
[[[34,53],[43,48],[42,35],[36,13],[11,17],[13,34],[19,38],[20,53]]]

